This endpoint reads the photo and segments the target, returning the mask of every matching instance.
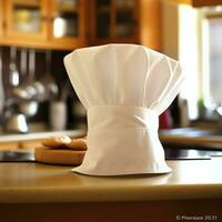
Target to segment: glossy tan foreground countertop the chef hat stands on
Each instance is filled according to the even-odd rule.
[[[102,178],[71,167],[0,163],[0,203],[222,199],[222,158],[168,164],[169,174]]]

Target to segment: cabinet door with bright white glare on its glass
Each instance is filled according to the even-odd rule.
[[[51,1],[50,42],[63,49],[84,46],[84,0]]]

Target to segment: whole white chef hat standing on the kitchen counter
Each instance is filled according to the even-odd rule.
[[[184,79],[179,62],[142,46],[107,44],[74,50],[64,65],[88,111],[88,151],[73,171],[170,172],[158,128]]]

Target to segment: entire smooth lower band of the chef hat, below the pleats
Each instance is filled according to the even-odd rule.
[[[78,171],[94,175],[170,172],[158,138],[158,115],[145,108],[90,108],[89,150]]]

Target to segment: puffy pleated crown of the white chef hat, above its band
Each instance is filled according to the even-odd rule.
[[[179,92],[179,62],[138,44],[107,44],[73,51],[64,59],[85,108],[134,105],[163,112]]]

